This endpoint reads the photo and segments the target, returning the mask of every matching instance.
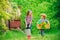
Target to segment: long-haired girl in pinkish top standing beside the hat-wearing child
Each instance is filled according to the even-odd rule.
[[[31,30],[30,29],[31,29],[31,23],[32,23],[32,11],[31,10],[29,10],[27,12],[25,22],[26,22],[26,34],[27,34],[28,40],[29,40],[31,37]]]

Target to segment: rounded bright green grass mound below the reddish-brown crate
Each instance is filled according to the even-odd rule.
[[[26,35],[21,30],[10,30],[2,35],[1,40],[21,40],[26,39]]]

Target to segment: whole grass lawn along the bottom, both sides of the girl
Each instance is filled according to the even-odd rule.
[[[30,40],[60,40],[60,32],[55,34],[45,34],[42,37],[40,34],[32,35]],[[9,30],[0,36],[0,40],[27,40],[27,36],[21,30]]]

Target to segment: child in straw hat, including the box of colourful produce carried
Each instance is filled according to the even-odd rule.
[[[50,23],[46,19],[46,14],[41,14],[41,19],[37,22],[37,28],[41,31],[41,36],[44,36],[44,29],[50,29]]]

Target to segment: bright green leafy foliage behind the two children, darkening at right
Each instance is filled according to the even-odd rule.
[[[47,19],[51,23],[50,32],[58,31],[59,26],[59,2],[57,0],[12,0],[17,5],[21,6],[21,28],[25,28],[25,16],[28,10],[32,10],[33,21],[32,21],[32,33],[38,33],[36,28],[36,22],[40,19],[41,13],[47,14]],[[46,31],[48,32],[48,31]]]

